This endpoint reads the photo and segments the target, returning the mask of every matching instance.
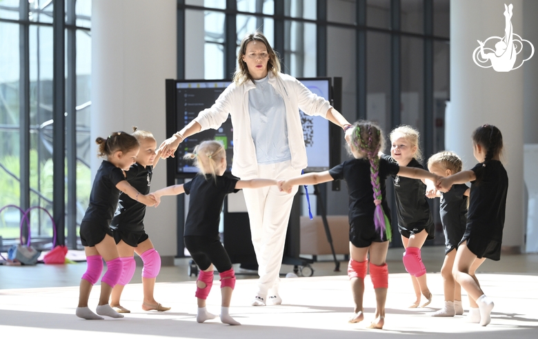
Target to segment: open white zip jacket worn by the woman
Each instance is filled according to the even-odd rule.
[[[294,169],[302,170],[308,161],[299,108],[308,115],[325,118],[332,106],[326,99],[313,94],[305,85],[288,74],[279,73],[279,76],[275,76],[269,72],[268,82],[280,94],[286,105],[291,165]],[[239,86],[235,83],[230,84],[214,105],[201,111],[195,118],[203,131],[210,128],[216,130],[228,119],[228,114],[232,116],[234,130],[232,174],[243,179],[258,176],[258,162],[248,112],[248,91],[255,87],[256,85],[250,80]]]

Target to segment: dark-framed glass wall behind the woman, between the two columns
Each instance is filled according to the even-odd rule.
[[[202,74],[206,79],[230,79],[230,74],[224,72],[226,65],[236,64],[237,48],[244,34],[258,29],[281,55],[284,73],[342,78],[341,112],[348,121],[377,121],[386,134],[406,123],[421,132],[423,150],[437,152],[444,148],[444,103],[450,88],[450,0],[186,3],[186,12],[203,11],[206,17],[219,17],[200,27],[186,14],[189,25],[185,38],[190,43],[186,43],[188,50],[183,50],[183,57],[187,79],[192,79],[187,74],[195,68],[205,69]],[[233,20],[235,27],[227,20]],[[227,31],[232,28],[234,32]],[[203,54],[201,65],[200,58],[193,56],[199,56],[193,37],[199,37],[200,31],[205,34],[206,44],[218,45],[199,52]],[[228,43],[235,43],[233,56]],[[181,50],[179,54],[181,58]],[[232,62],[227,61],[231,58]],[[343,147],[340,152],[342,159],[348,156]],[[424,158],[430,155],[424,154]],[[328,214],[347,213],[344,190],[327,192]]]

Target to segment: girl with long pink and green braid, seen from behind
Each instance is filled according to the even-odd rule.
[[[294,185],[315,185],[333,180],[345,180],[349,194],[350,223],[350,278],[354,314],[349,322],[360,322],[363,316],[364,278],[368,271],[370,254],[370,278],[377,300],[375,320],[372,329],[381,329],[385,323],[385,302],[388,288],[388,268],[386,256],[390,229],[390,210],[386,201],[385,180],[390,175],[412,178],[437,178],[425,170],[399,167],[378,153],[384,147],[383,132],[370,121],[359,121],[353,125],[348,141],[348,152],[352,159],[344,161],[326,172],[309,173],[279,182],[284,192],[291,192]],[[373,191],[373,196],[372,196]]]

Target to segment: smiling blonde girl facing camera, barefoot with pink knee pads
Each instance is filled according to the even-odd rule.
[[[409,125],[396,127],[389,134],[390,156],[382,155],[386,161],[398,163],[400,167],[424,169],[421,165],[422,154],[419,147],[419,131]],[[420,307],[426,307],[432,302],[432,294],[426,281],[426,267],[422,263],[421,248],[426,240],[435,238],[435,228],[426,200],[426,182],[401,178],[401,174],[392,175],[394,183],[398,230],[401,242],[406,252],[403,254],[403,266],[411,276],[415,290],[415,302],[409,308],[420,305],[421,295],[426,302]]]

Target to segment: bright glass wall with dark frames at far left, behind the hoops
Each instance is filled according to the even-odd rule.
[[[91,0],[65,2],[65,36],[68,37],[70,32],[74,36],[74,39],[66,38],[66,70],[72,65],[76,70],[74,74],[66,71],[66,96],[70,92],[76,96],[73,110],[76,112],[77,187],[66,185],[67,190],[77,192],[76,222],[67,226],[71,233],[76,232],[86,211],[91,185],[88,158],[91,3]],[[21,192],[28,192],[28,207],[39,206],[52,214],[53,10],[52,1],[0,0],[0,138],[3,141],[0,149],[0,208],[23,205],[21,198],[24,194]],[[69,53],[68,50],[75,52]],[[75,85],[68,86],[72,76]],[[25,105],[28,105],[28,110],[25,110]],[[67,106],[66,111],[70,111]],[[21,130],[21,125],[28,125],[28,130]],[[21,136],[28,133],[29,147],[22,148]],[[21,168],[23,158],[28,158],[28,170]],[[14,208],[5,209],[0,214],[0,236],[4,245],[10,243],[9,239],[19,238],[20,218],[19,211]],[[52,221],[45,212],[32,211],[30,229],[38,247],[50,243]],[[75,245],[70,244],[71,247]]]

